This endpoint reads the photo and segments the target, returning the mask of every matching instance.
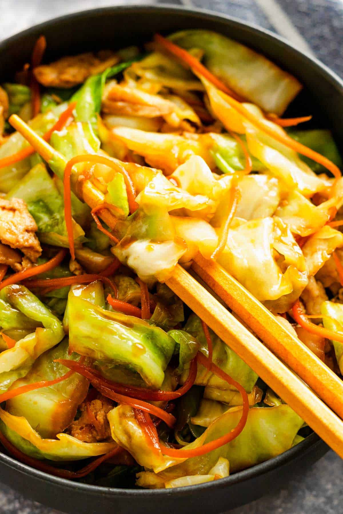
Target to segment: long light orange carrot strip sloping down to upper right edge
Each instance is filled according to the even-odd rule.
[[[226,95],[223,93],[223,91],[218,91],[219,95],[224,98],[224,100],[236,111],[244,116],[250,123],[255,125],[256,127],[260,128],[262,132],[267,134],[268,136],[273,137],[279,143],[284,144],[287,146],[287,148],[290,148],[294,150],[295,152],[298,152],[299,154],[305,155],[306,157],[309,157],[310,159],[314,160],[315,162],[318,162],[318,164],[322,164],[327,170],[331,171],[333,176],[338,179],[341,177],[341,172],[338,166],[331,162],[331,160],[327,159],[327,157],[324,157],[323,155],[318,154],[318,152],[315,152],[314,150],[311,150],[311,148],[308,148],[308,146],[305,146],[302,143],[299,143],[295,139],[292,139],[287,134],[279,134],[278,131],[275,130],[275,128],[267,126],[264,123],[264,120],[258,118],[255,114],[252,114],[248,111],[248,109],[242,105],[240,102],[235,100],[234,98],[230,97],[229,95]]]

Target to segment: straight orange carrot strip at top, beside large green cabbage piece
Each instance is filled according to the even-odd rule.
[[[222,91],[224,91],[224,93],[232,96],[233,98],[236,98],[237,100],[243,100],[242,97],[234,93],[232,89],[227,87],[221,80],[215,77],[207,68],[205,68],[203,64],[201,64],[200,61],[198,61],[194,56],[192,56],[187,50],[175,45],[174,43],[164,38],[160,34],[155,34],[154,39],[156,43],[163,46],[166,50],[168,50],[178,59],[182,60],[184,63],[188,64],[190,68],[200,73],[200,75],[203,75],[203,77],[205,77],[205,79],[214,84],[215,87],[218,87],[218,89],[221,89]]]

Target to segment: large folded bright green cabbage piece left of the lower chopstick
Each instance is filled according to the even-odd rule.
[[[158,389],[175,341],[134,316],[105,310],[73,292],[68,297],[69,347],[104,363],[122,364]]]

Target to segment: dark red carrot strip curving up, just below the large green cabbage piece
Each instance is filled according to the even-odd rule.
[[[92,384],[93,381],[95,381],[99,386],[103,386],[106,389],[114,391],[115,393],[147,401],[169,401],[175,400],[176,398],[183,396],[193,386],[197,373],[196,358],[194,358],[190,363],[189,374],[183,386],[181,386],[176,391],[156,391],[147,388],[125,386],[122,383],[113,382],[112,380],[104,378],[101,375],[101,373],[94,370],[93,368],[81,365],[79,362],[76,361],[59,359],[58,362],[61,362],[67,368],[77,371],[80,375],[86,377]]]

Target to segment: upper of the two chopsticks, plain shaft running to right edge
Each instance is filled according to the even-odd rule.
[[[343,418],[343,381],[326,364],[288,332],[254,295],[217,262],[204,259],[197,253],[192,269],[252,328],[274,354]]]

